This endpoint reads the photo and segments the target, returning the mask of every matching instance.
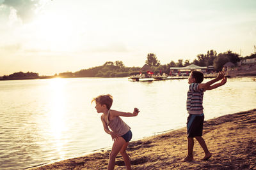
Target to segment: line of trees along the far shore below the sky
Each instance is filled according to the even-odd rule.
[[[256,55],[252,54],[250,56],[246,56],[243,59],[252,59],[255,58]],[[177,62],[173,60],[168,64],[161,65],[160,61],[157,59],[156,54],[148,53],[147,60],[145,60],[145,64],[148,64],[152,68],[154,73],[170,73],[170,67],[184,67],[189,66],[191,64],[195,64],[196,66],[214,66],[216,71],[221,71],[223,65],[227,62],[232,62],[237,64],[242,58],[239,57],[239,54],[234,53],[230,50],[224,53],[216,53],[214,50],[209,50],[205,54],[198,54],[196,59],[193,62],[189,60],[179,59]],[[139,74],[141,67],[126,67],[124,62],[117,60],[115,62],[107,61],[102,66],[91,67],[89,69],[81,69],[80,71],[65,72],[55,74],[54,76],[38,76],[38,73],[13,73],[9,76],[3,76],[1,80],[13,80],[13,79],[31,79],[31,78],[52,78],[56,76],[60,76],[63,78],[72,78],[72,77],[126,77],[131,74]]]

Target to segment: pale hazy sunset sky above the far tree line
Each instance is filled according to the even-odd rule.
[[[0,0],[0,76],[142,67],[256,45],[255,0]]]

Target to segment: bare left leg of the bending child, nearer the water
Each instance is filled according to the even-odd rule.
[[[118,140],[113,143],[112,150],[109,154],[108,170],[112,170],[115,167],[116,155],[122,149],[122,146],[126,143],[125,139],[118,137]]]

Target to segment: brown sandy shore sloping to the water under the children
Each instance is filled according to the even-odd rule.
[[[187,153],[186,128],[133,141],[127,153],[133,169],[256,169],[256,109],[205,121],[204,139],[212,153],[204,157],[195,142],[194,160],[182,162]],[[35,169],[107,169],[110,150],[63,160]],[[122,157],[115,169],[125,169]]]

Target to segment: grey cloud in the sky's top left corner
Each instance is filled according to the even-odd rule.
[[[40,0],[4,0],[2,3],[0,2],[1,5],[9,7],[11,11],[14,10],[15,15],[26,23],[33,20],[36,10],[42,6],[42,3]]]

